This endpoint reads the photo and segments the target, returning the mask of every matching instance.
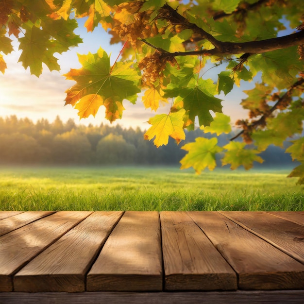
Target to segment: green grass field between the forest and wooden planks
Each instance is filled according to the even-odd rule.
[[[304,210],[289,171],[0,168],[0,210]]]

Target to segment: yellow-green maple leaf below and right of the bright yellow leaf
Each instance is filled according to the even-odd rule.
[[[207,167],[209,170],[213,170],[217,165],[215,155],[222,151],[217,143],[216,137],[210,139],[197,137],[195,142],[184,145],[182,149],[188,151],[188,154],[180,161],[181,169],[193,167],[198,174]]]

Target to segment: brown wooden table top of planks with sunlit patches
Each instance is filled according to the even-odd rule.
[[[304,289],[304,211],[1,211],[1,292]]]

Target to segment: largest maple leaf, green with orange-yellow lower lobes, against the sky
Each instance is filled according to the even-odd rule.
[[[99,107],[106,107],[106,118],[114,121],[121,118],[122,101],[135,102],[140,76],[130,68],[133,62],[118,62],[110,67],[110,58],[101,48],[96,54],[79,55],[83,68],[71,69],[67,79],[76,81],[67,92],[66,104],[79,110],[80,118],[95,116]]]

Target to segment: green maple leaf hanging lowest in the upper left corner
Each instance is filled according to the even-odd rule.
[[[19,50],[22,53],[18,62],[22,62],[24,68],[30,67],[31,74],[39,75],[42,73],[42,63],[45,63],[50,70],[60,70],[57,58],[53,53],[57,50],[52,48],[49,34],[36,27],[32,22],[25,24],[26,33],[19,38]]]

